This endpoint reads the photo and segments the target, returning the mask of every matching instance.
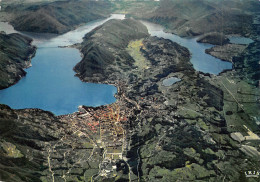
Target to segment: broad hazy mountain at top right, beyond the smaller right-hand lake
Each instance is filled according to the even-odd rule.
[[[256,1],[162,0],[159,8],[139,18],[162,24],[180,36],[209,32],[249,36],[257,7]]]

